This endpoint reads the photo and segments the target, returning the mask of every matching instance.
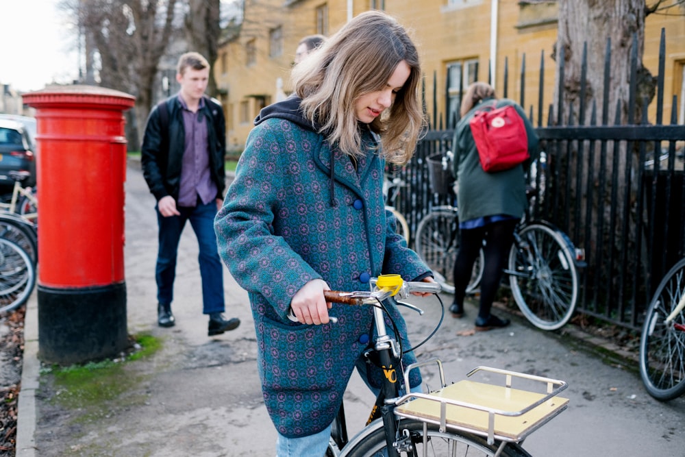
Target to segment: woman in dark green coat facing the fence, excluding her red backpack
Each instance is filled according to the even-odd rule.
[[[462,119],[452,141],[461,244],[454,262],[454,302],[449,310],[453,317],[464,316],[466,286],[471,280],[473,262],[482,247],[485,264],[475,319],[475,330],[478,331],[502,328],[510,323],[509,319],[499,319],[492,314],[490,308],[514,241],[514,228],[528,204],[524,177],[526,164],[496,173],[486,173],[480,165],[469,121],[478,110],[493,105],[496,108],[514,106],[525,124],[530,160],[536,158],[538,149],[538,138],[521,106],[508,99],[497,100],[495,89],[484,82],[469,86],[460,107]]]

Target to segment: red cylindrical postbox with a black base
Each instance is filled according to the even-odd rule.
[[[95,86],[23,96],[36,108],[38,356],[69,365],[127,345],[123,112],[135,98]]]

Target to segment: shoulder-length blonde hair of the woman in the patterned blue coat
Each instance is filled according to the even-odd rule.
[[[421,66],[406,30],[388,14],[369,11],[356,16],[295,66],[292,82],[304,115],[319,125],[331,145],[350,156],[362,154],[354,103],[385,88],[402,60],[410,67],[407,82],[393,106],[369,126],[380,135],[388,162],[408,162],[425,123],[419,103]]]

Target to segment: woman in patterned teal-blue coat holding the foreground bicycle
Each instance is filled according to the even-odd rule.
[[[336,306],[329,323],[323,291],[368,290],[382,273],[432,281],[382,193],[386,160],[408,161],[421,132],[420,77],[397,21],[378,11],[353,18],[295,66],[295,94],[260,112],[217,214],[219,253],[249,292],[277,456],[323,456],[355,367],[380,386],[362,358],[371,307]],[[416,373],[410,388],[420,383]]]

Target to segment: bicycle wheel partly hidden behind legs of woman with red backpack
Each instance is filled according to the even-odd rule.
[[[454,293],[454,261],[459,251],[459,218],[456,208],[434,208],[419,222],[416,228],[416,254],[433,271],[435,280],[443,292]],[[481,249],[473,265],[471,281],[466,293],[474,293],[483,276],[484,253]]]

